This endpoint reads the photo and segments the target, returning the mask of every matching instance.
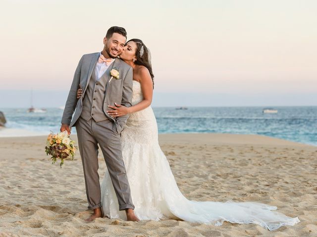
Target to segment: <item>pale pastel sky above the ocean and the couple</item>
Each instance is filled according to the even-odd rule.
[[[81,55],[118,25],[150,48],[158,95],[296,94],[311,105],[316,12],[316,0],[1,0],[0,91],[67,94]]]

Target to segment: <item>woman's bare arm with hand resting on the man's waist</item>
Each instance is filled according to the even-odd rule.
[[[140,80],[143,100],[140,101],[138,104],[128,108],[118,104],[115,104],[115,106],[108,106],[109,108],[113,109],[107,111],[110,116],[120,117],[126,114],[131,114],[143,110],[151,105],[153,98],[153,81],[149,70],[145,67],[142,67],[140,69],[139,75],[137,75],[137,78]]]

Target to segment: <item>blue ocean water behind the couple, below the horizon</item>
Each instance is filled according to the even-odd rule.
[[[259,134],[317,146],[317,107],[275,107],[277,114],[262,113],[263,107],[154,108],[159,133]],[[48,134],[57,132],[63,111],[27,113],[27,108],[0,108],[7,127]],[[75,129],[72,132],[76,132]]]

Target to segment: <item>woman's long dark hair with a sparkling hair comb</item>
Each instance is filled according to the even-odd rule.
[[[151,55],[150,55],[149,49],[147,48],[147,46],[145,46],[145,44],[143,43],[142,40],[132,39],[132,40],[129,40],[128,42],[130,42],[130,41],[135,42],[137,45],[136,52],[135,52],[135,56],[136,56],[137,60],[134,63],[136,65],[142,65],[149,70],[152,81],[153,81],[153,88],[154,88],[154,74],[153,74],[153,70],[152,70]],[[140,50],[141,50],[142,46],[144,49],[144,53],[141,57]]]

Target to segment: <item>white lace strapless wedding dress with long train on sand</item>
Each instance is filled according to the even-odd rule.
[[[133,105],[143,99],[141,85],[133,81]],[[150,107],[133,113],[121,132],[122,154],[129,179],[135,214],[140,220],[161,218],[222,225],[223,221],[258,224],[268,230],[294,225],[299,219],[272,211],[275,206],[257,202],[192,201],[179,191],[169,163],[159,147],[158,127]],[[102,189],[104,214],[126,219],[119,211],[108,171]]]

